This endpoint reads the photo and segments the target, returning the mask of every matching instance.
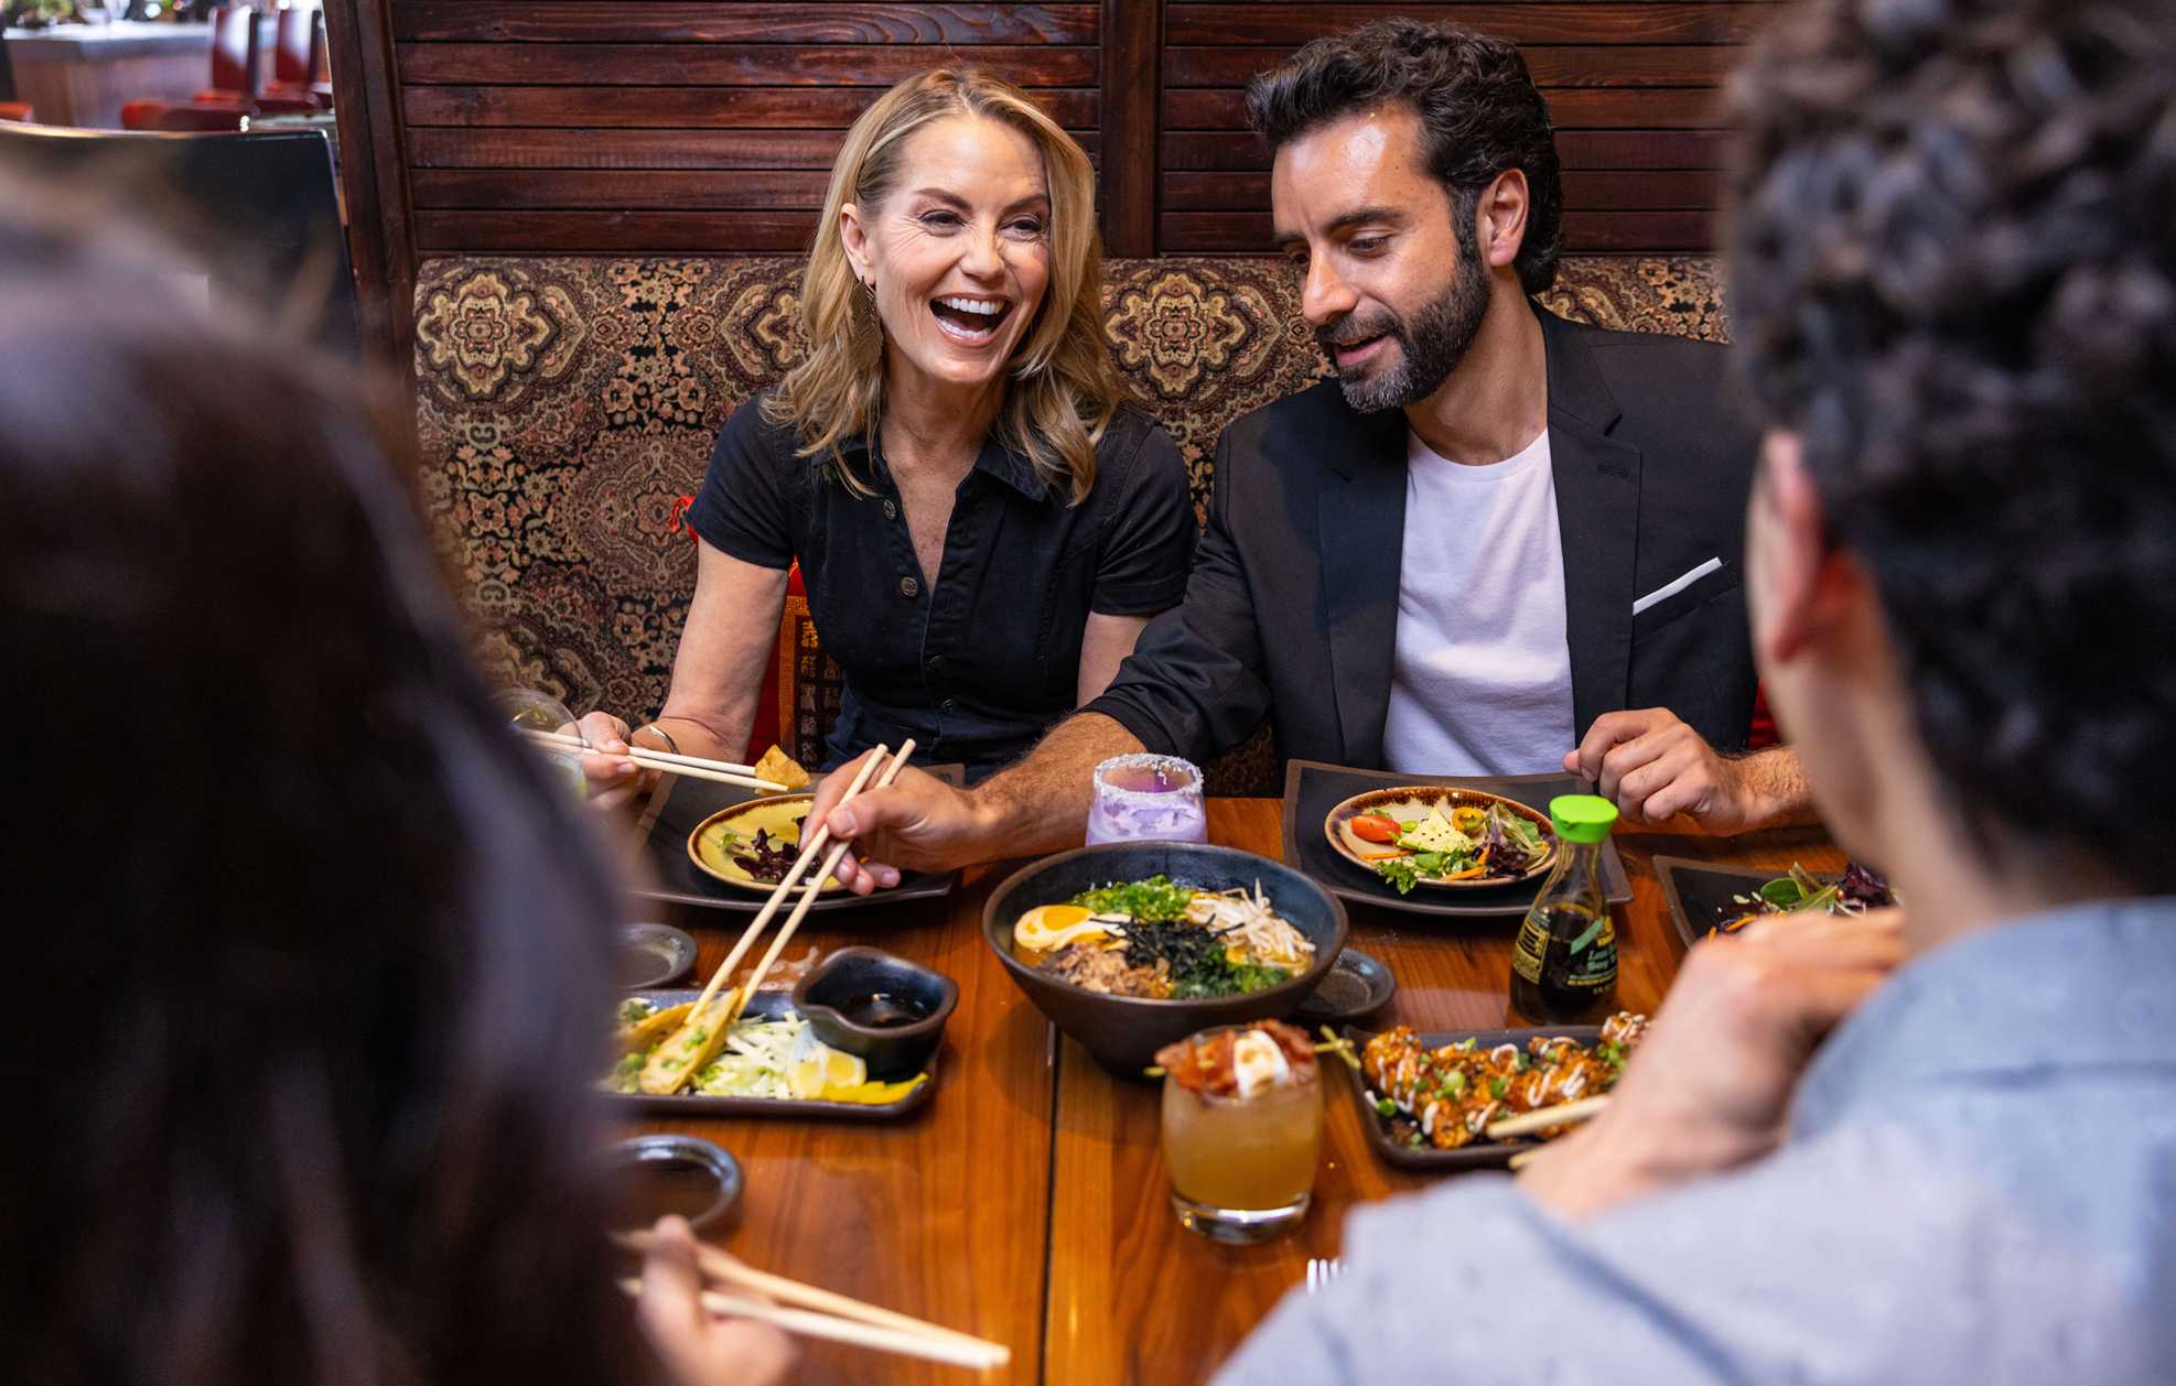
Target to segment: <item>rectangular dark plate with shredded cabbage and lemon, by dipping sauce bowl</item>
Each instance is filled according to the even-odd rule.
[[[618,1014],[618,1064],[598,1079],[611,1103],[646,1116],[788,1116],[799,1121],[899,1121],[929,1103],[938,1084],[940,1053],[929,1055],[920,1075],[897,1084],[868,1077],[860,1055],[833,1051],[794,1012],[788,992],[759,990],[733,1023],[725,1049],[703,1049],[690,1064],[690,1084],[679,1092],[629,1090],[646,1060],[668,1044],[685,1020],[698,988],[633,992]],[[720,999],[712,1005],[722,1003]],[[646,1014],[635,1014],[648,1007]],[[679,1014],[675,1014],[679,1012]],[[709,1036],[703,1034],[703,1040]],[[714,1073],[716,1071],[716,1073]],[[801,1097],[796,1097],[796,1092]],[[846,1099],[846,1094],[853,1094]]]

